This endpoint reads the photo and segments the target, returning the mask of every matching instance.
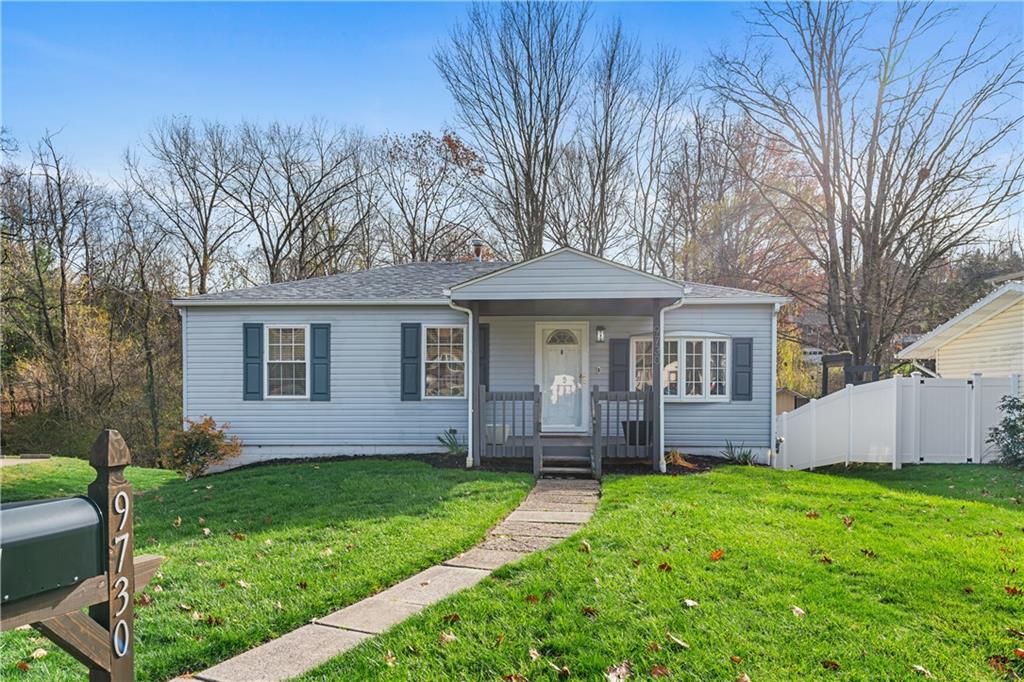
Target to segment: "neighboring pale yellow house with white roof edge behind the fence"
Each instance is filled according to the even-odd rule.
[[[935,360],[950,379],[1024,374],[1024,282],[1007,282],[896,356]]]

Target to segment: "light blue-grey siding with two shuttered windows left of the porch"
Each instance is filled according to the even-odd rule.
[[[465,398],[401,400],[401,323],[465,325],[445,306],[191,307],[185,329],[185,416],[228,422],[244,445],[435,447],[465,436]],[[330,323],[331,400],[242,399],[242,326]]]

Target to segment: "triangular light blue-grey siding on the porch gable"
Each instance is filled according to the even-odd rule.
[[[560,251],[479,282],[454,288],[453,297],[472,300],[581,298],[678,298],[682,285],[664,282],[607,261]]]

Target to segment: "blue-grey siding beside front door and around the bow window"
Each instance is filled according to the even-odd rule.
[[[666,333],[721,334],[754,339],[753,400],[673,402],[665,406],[665,439],[669,447],[721,449],[726,440],[767,447],[771,440],[771,305],[692,305],[666,313]],[[535,383],[534,316],[494,316],[490,325],[492,390],[528,390]],[[569,322],[569,321],[567,321]],[[596,328],[607,340],[650,334],[650,317],[589,317],[588,387],[608,388],[608,343],[597,343]]]

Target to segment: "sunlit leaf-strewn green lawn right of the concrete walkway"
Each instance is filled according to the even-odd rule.
[[[1001,679],[991,656],[1024,674],[1021,501],[1024,474],[991,466],[608,477],[580,534],[306,679],[591,680],[624,660],[635,679]]]

